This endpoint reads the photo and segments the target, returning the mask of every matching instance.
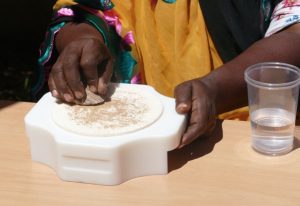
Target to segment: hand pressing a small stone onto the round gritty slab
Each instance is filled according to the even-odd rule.
[[[48,79],[52,96],[70,103],[83,102],[86,93],[81,78],[92,92],[104,95],[113,58],[101,34],[89,24],[69,23],[59,31],[55,43],[59,56]]]

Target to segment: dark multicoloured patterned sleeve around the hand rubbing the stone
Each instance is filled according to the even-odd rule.
[[[80,4],[79,4],[80,3]],[[40,49],[39,78],[32,88],[32,96],[38,99],[47,91],[46,81],[52,65],[57,58],[54,47],[55,35],[67,22],[76,22],[80,16],[80,21],[94,26],[104,39],[104,43],[109,48],[115,58],[114,78],[120,82],[130,83],[134,77],[134,67],[136,61],[132,58],[128,48],[134,43],[132,32],[128,32],[121,38],[121,24],[118,17],[110,11],[113,4],[108,0],[101,1],[58,1],[54,6],[54,13],[51,24],[45,36],[45,41]],[[97,10],[99,9],[99,11]],[[135,81],[140,78],[134,78]],[[136,82],[138,83],[138,82]]]

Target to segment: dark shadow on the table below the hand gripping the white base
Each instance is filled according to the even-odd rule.
[[[168,168],[169,172],[179,169],[188,161],[197,159],[213,151],[216,143],[222,140],[223,121],[217,122],[216,128],[212,135],[204,138],[198,138],[193,143],[181,148],[168,152]]]

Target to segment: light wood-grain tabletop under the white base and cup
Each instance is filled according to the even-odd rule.
[[[250,147],[249,122],[220,122],[212,137],[169,152],[167,175],[117,186],[62,181],[31,161],[23,119],[33,105],[0,102],[1,206],[300,205],[299,140],[287,155],[260,155]]]

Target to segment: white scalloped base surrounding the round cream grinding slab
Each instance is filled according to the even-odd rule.
[[[116,185],[135,177],[166,174],[167,153],[179,145],[185,116],[176,113],[174,99],[152,87],[120,84],[117,90],[133,88],[156,98],[161,112],[145,127],[107,136],[64,129],[53,120],[56,99],[50,93],[44,95],[25,117],[32,159],[52,167],[61,179],[75,182]]]

